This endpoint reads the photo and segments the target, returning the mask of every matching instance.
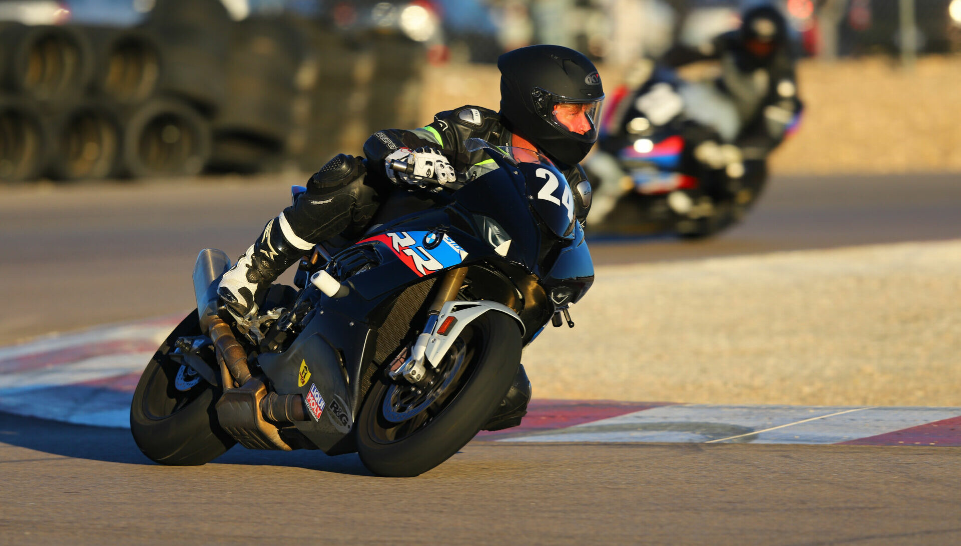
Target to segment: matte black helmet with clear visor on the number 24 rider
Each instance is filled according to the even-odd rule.
[[[583,160],[598,138],[596,122],[604,101],[594,63],[567,47],[530,45],[508,51],[498,58],[497,67],[507,128],[562,165]],[[580,130],[558,119],[563,109],[557,108],[565,104],[575,105],[579,119],[586,117]]]

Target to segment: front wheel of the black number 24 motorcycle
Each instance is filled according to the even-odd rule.
[[[521,333],[508,315],[486,312],[467,325],[430,386],[379,372],[357,419],[357,453],[381,476],[431,470],[494,414],[517,375]]]

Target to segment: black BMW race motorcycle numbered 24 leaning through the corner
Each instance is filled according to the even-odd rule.
[[[594,280],[573,201],[589,190],[572,190],[536,152],[467,144],[489,160],[432,192],[395,192],[356,242],[317,245],[296,286],[272,285],[235,320],[239,335],[215,292],[230,261],[201,251],[198,311],[136,386],[140,450],[171,465],[204,464],[237,442],[356,451],[375,474],[415,476],[481,428],[519,424],[522,414],[499,411],[515,378],[527,381],[522,348],[549,322],[573,327],[568,306]],[[333,161],[344,158],[357,160]]]

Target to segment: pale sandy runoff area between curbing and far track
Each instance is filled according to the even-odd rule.
[[[597,268],[537,398],[961,406],[961,239]]]

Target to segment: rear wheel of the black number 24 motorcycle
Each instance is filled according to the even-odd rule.
[[[147,364],[130,409],[130,429],[137,447],[160,464],[204,464],[236,443],[217,422],[214,404],[220,388],[168,356],[177,339],[185,335],[201,335],[196,312],[167,336]]]

